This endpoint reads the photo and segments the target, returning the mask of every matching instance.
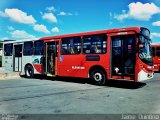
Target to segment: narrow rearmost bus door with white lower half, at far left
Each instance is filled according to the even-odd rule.
[[[13,71],[22,71],[22,44],[14,45]]]

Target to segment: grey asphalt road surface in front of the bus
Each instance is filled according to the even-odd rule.
[[[0,113],[160,113],[160,73],[145,83],[111,81],[106,86],[69,78],[1,80]]]

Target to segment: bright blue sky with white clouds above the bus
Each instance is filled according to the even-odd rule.
[[[0,0],[0,40],[130,26],[160,43],[160,0]]]

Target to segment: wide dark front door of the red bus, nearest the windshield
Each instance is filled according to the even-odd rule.
[[[111,36],[111,78],[135,79],[135,35]]]

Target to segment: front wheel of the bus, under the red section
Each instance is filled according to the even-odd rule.
[[[106,83],[106,74],[102,70],[92,70],[90,78],[96,85],[102,86]]]

